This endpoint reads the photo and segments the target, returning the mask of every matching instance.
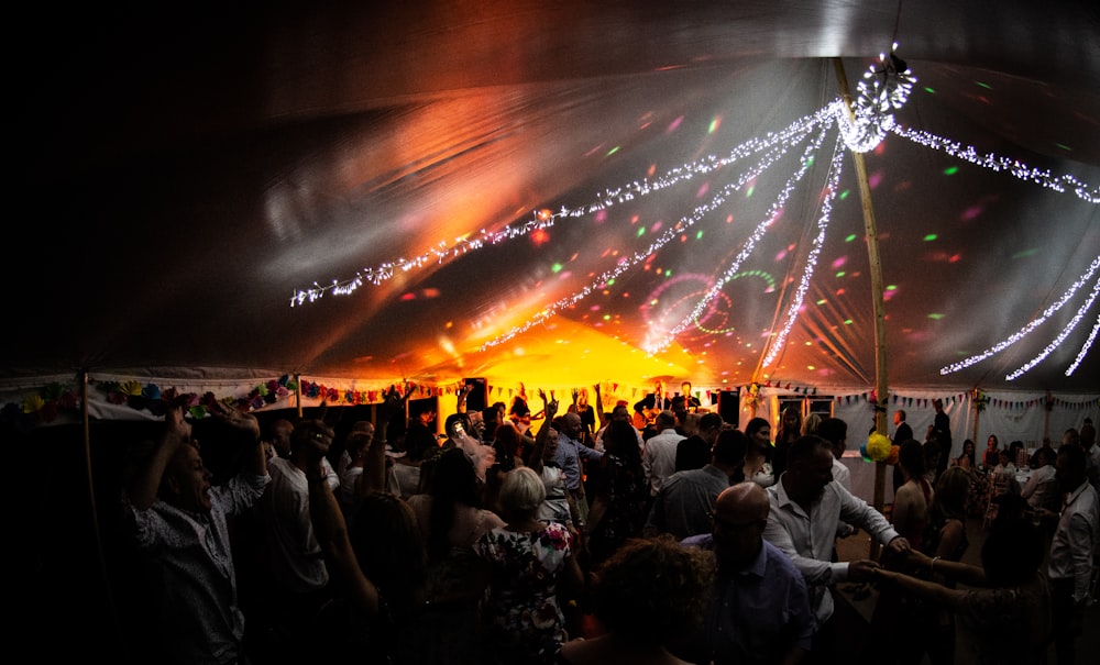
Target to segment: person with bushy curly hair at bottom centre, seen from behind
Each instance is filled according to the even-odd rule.
[[[634,539],[596,572],[591,602],[605,633],[566,642],[558,657],[571,665],[686,663],[667,645],[693,634],[710,603],[714,559],[670,535]]]

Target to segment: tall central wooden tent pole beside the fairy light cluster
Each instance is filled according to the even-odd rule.
[[[840,85],[840,93],[844,97],[844,108],[848,112],[848,118],[854,120],[856,114],[851,109],[851,91],[848,89],[848,77],[844,73],[844,62],[839,57],[833,58],[833,67],[836,69],[837,82]],[[875,208],[871,204],[871,186],[867,180],[867,164],[864,162],[864,154],[853,152],[853,162],[856,164],[856,176],[859,181],[859,200],[864,206],[864,235],[867,240],[867,258],[871,270],[871,302],[875,309],[875,430],[889,436],[887,431],[887,404],[889,403],[889,387],[887,385],[887,311],[886,301],[882,298],[884,290],[882,281],[882,259],[879,256],[879,233],[875,223]],[[887,465],[884,462],[875,463],[875,509],[882,512],[886,502]],[[879,544],[871,543],[871,558],[877,558]]]

